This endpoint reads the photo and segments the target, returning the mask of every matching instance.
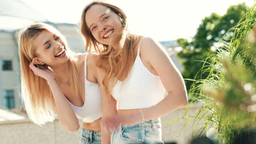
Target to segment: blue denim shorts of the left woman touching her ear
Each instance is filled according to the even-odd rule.
[[[82,128],[82,135],[80,144],[100,144],[101,143],[101,131],[92,131]]]

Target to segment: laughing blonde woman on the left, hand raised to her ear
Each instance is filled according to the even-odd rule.
[[[79,129],[80,143],[101,143],[101,95],[95,54],[74,53],[63,35],[45,23],[26,27],[19,35],[21,96],[30,119],[53,121]]]

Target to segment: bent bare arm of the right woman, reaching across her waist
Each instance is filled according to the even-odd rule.
[[[141,56],[154,68],[168,93],[158,104],[141,109],[144,119],[165,116],[187,105],[187,91],[183,77],[164,48],[153,39],[144,38],[141,43]],[[142,113],[139,111],[130,118],[122,118],[122,123],[130,125],[141,122],[142,119]]]

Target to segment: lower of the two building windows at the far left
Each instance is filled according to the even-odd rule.
[[[4,97],[4,107],[7,107],[8,109],[14,108],[14,92],[13,89],[8,89],[3,91],[3,97]]]

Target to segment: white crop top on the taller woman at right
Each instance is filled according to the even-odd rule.
[[[165,88],[160,77],[152,74],[139,56],[141,41],[129,76],[113,87],[112,96],[118,101],[118,109],[141,109],[158,104],[164,99]]]

